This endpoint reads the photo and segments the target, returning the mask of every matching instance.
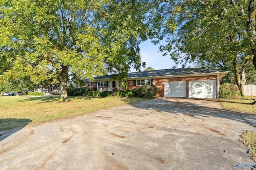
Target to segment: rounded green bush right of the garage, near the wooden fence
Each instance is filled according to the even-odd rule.
[[[234,99],[240,98],[241,94],[237,86],[231,83],[224,83],[220,85],[220,98]]]

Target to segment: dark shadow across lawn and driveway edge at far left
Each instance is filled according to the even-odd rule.
[[[30,122],[32,122],[30,119],[0,119],[0,141],[16,133]]]

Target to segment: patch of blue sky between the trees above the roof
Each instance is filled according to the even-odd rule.
[[[162,42],[164,43],[164,42]],[[140,44],[141,61],[146,62],[146,68],[152,67],[155,70],[172,68],[175,63],[170,59],[170,56],[162,56],[158,47],[160,44],[154,45],[150,40],[144,41]],[[193,67],[193,64],[187,66]],[[181,68],[182,65],[178,65],[177,68]],[[141,68],[143,71],[145,68]],[[134,68],[131,68],[131,72],[136,72]]]

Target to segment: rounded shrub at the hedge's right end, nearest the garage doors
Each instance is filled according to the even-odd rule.
[[[136,96],[142,98],[153,98],[156,96],[157,92],[158,88],[156,88],[156,86],[141,86],[138,89]]]

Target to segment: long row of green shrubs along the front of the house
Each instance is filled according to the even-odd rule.
[[[68,89],[68,96],[95,96],[95,97],[106,97],[106,96],[118,96],[118,97],[141,97],[141,98],[153,98],[156,96],[158,88],[155,86],[141,86],[135,90],[119,90],[113,88],[112,92],[97,92],[96,88],[73,88]]]

